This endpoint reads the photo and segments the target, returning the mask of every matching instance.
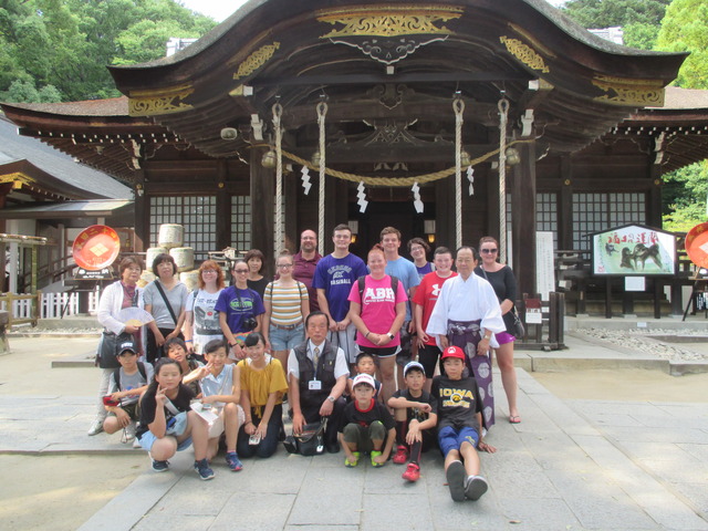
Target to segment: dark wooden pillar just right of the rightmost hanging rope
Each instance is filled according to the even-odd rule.
[[[519,293],[535,293],[535,142],[518,144],[513,166],[512,259]]]

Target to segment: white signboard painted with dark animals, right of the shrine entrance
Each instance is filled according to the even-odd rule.
[[[595,232],[593,274],[670,275],[676,271],[676,237],[652,227],[627,225]]]

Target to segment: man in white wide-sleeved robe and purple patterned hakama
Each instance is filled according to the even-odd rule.
[[[435,335],[441,350],[459,346],[466,354],[466,365],[482,393],[482,421],[487,429],[494,424],[494,394],[491,384],[490,346],[499,346],[493,334],[507,327],[491,284],[472,273],[477,251],[460,247],[455,260],[458,275],[442,284],[433,309],[426,334]]]

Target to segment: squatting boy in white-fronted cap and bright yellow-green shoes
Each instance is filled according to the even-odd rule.
[[[396,427],[388,408],[374,399],[375,382],[369,374],[360,374],[353,382],[354,399],[344,408],[340,425],[340,444],[346,458],[344,466],[353,468],[362,452],[368,452],[373,467],[388,460],[396,438]]]

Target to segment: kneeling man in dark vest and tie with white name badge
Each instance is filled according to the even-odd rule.
[[[289,402],[292,406],[292,430],[302,433],[305,424],[329,417],[324,435],[330,454],[340,451],[337,427],[344,410],[342,397],[350,375],[344,351],[326,340],[330,319],[322,312],[312,312],[305,319],[308,339],[290,351],[288,375]]]

